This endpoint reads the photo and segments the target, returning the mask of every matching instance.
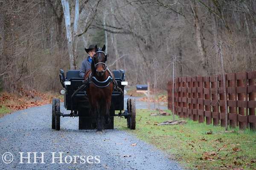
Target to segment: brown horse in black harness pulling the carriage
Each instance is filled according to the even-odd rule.
[[[111,96],[115,87],[113,73],[106,65],[107,54],[105,45],[98,48],[95,45],[96,54],[91,62],[91,69],[85,73],[84,79],[88,83],[87,96],[90,103],[90,111],[96,118],[96,133],[105,131],[104,125],[111,121],[109,112],[111,107]]]

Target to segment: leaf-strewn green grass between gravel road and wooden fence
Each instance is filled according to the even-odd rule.
[[[160,126],[156,124],[172,120],[172,116],[149,116],[151,112],[137,109],[136,130],[128,130],[126,119],[118,117],[115,127],[164,150],[188,169],[256,169],[255,132],[238,128],[225,132],[224,127],[188,119],[185,125]],[[212,134],[207,135],[209,131]]]

